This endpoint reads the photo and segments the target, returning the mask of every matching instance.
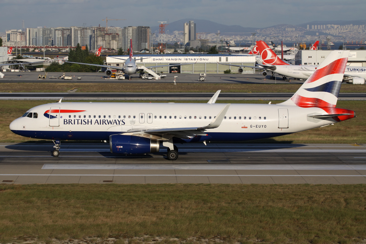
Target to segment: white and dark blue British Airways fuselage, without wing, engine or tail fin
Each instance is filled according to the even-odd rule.
[[[27,111],[10,124],[15,134],[39,139],[108,140],[131,130],[207,126],[226,104],[202,103],[51,103]],[[25,115],[27,115],[27,113]],[[34,113],[37,113],[35,116]],[[207,136],[181,139],[245,141],[300,132],[335,123],[309,114],[326,114],[318,107],[280,104],[231,104],[221,125]],[[33,118],[37,117],[37,118]]]

